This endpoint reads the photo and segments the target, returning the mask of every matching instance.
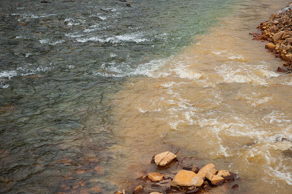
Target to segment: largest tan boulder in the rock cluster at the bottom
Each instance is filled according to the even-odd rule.
[[[171,186],[201,187],[204,180],[195,172],[188,170],[179,170],[171,182]]]

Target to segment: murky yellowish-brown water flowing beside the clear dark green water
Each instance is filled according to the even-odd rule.
[[[183,150],[188,165],[236,172],[241,193],[291,193],[292,75],[275,72],[283,62],[248,35],[287,5],[269,1],[239,3],[195,45],[128,80],[113,102],[116,184],[157,170],[152,155]]]

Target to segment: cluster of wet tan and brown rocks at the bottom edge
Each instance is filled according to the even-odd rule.
[[[156,164],[160,169],[170,166],[176,161],[176,155],[172,152],[163,152],[153,156],[151,163]],[[158,168],[158,169],[159,169]],[[159,172],[150,172],[144,175],[139,180],[145,182],[145,185],[151,187],[161,187],[162,193],[151,192],[150,194],[173,194],[173,193],[204,193],[211,190],[212,187],[222,185],[224,183],[230,183],[234,181],[236,174],[229,170],[216,170],[214,164],[210,163],[202,167],[198,166],[192,168],[183,167],[179,170],[175,177],[165,177]],[[238,189],[238,185],[235,184],[231,189]],[[123,189],[122,192],[117,191],[115,194],[126,194]],[[136,187],[133,194],[146,194],[141,185]]]

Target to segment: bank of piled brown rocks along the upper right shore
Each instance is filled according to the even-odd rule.
[[[273,13],[258,28],[262,34],[250,33],[255,37],[254,40],[269,41],[265,48],[286,62],[277,71],[292,73],[292,2],[285,9]]]

